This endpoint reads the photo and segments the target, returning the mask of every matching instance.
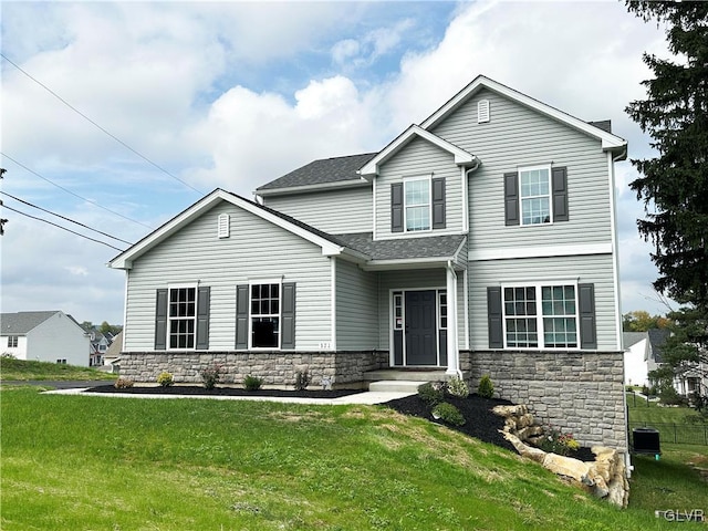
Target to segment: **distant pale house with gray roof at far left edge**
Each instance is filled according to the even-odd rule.
[[[3,313],[0,331],[3,354],[18,360],[88,366],[88,336],[64,312]]]

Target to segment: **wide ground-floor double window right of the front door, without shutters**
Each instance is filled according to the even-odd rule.
[[[504,344],[508,348],[576,348],[575,285],[504,287]]]

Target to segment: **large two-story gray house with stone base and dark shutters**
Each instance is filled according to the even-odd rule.
[[[110,262],[121,372],[292,385],[437,369],[626,448],[614,163],[626,142],[478,76],[378,153],[217,189]]]

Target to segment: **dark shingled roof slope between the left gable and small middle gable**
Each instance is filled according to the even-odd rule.
[[[351,187],[368,185],[357,174],[358,168],[366,164],[375,153],[348,155],[346,157],[332,157],[313,160],[275,180],[259,186],[256,194],[259,196],[274,196],[282,194],[296,194],[321,187]]]

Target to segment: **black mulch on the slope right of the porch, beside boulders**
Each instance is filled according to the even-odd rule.
[[[461,431],[462,434],[475,437],[476,439],[485,442],[491,442],[492,445],[507,448],[516,452],[513,445],[509,442],[499,433],[504,427],[504,419],[492,413],[492,408],[499,405],[511,405],[509,400],[500,398],[483,398],[479,395],[471,394],[467,398],[458,398],[451,395],[445,396],[445,402],[448,402],[456,406],[465,419],[467,420],[462,426],[449,426],[450,429]],[[436,424],[444,424],[440,420],[436,420],[430,415],[431,408],[418,396],[410,395],[397,400],[391,400],[384,406],[388,406],[405,415],[413,415],[416,417],[425,418]],[[581,447],[577,451],[571,451],[568,457],[580,459],[581,461],[594,461],[595,455],[590,448]]]

